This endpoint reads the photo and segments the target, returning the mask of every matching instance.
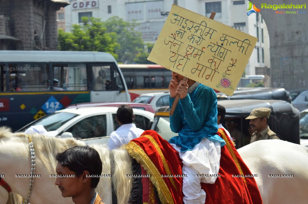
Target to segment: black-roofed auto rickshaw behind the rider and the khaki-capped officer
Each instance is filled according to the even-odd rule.
[[[250,120],[245,120],[254,108],[266,107],[271,109],[270,129],[278,134],[282,140],[295,144],[300,144],[299,137],[299,119],[298,109],[289,102],[282,100],[221,100],[217,102],[226,109],[225,119],[233,118],[237,120],[237,129],[245,137],[248,135],[248,126]],[[154,122],[151,129],[156,130],[159,120],[169,121],[169,107],[161,107],[155,113]]]

